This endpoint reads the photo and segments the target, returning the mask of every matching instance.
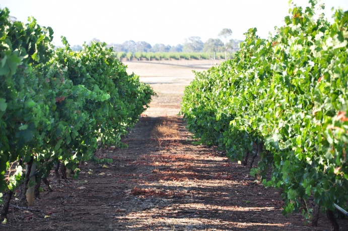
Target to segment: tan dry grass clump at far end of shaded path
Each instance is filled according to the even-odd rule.
[[[161,117],[159,123],[154,127],[152,135],[164,139],[178,139],[178,118],[174,116]]]

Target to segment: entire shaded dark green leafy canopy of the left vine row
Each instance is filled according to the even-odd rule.
[[[24,25],[0,12],[0,191],[23,180],[22,166],[5,180],[11,162],[31,158],[47,176],[61,161],[75,169],[97,143],[124,146],[121,135],[155,94],[105,43],[53,50],[53,31],[34,19]],[[78,173],[78,171],[76,171]]]

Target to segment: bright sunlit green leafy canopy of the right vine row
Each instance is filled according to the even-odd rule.
[[[348,12],[330,25],[310,3],[273,38],[250,29],[234,59],[195,73],[181,105],[200,141],[231,159],[264,143],[253,173],[272,167],[263,183],[283,189],[285,213],[310,196],[330,209],[348,200]]]

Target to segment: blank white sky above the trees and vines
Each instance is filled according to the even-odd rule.
[[[293,2],[309,6],[308,0]],[[328,19],[332,7],[348,10],[348,0],[319,3],[325,4]],[[253,27],[267,38],[289,14],[288,0],[0,0],[0,8],[5,7],[19,21],[33,16],[40,26],[52,27],[57,46],[61,35],[71,45],[97,38],[106,43],[133,40],[173,46],[191,36],[203,42],[218,38],[223,28],[232,30],[233,39],[244,40],[243,33]]]

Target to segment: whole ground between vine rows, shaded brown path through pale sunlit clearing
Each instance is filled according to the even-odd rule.
[[[318,227],[300,212],[284,217],[279,191],[257,184],[223,152],[193,144],[177,114],[194,66],[126,64],[158,94],[123,139],[128,148],[96,153],[112,163],[85,163],[78,180],[57,184],[51,176],[54,191],[42,192],[33,207],[14,198],[1,230],[330,229],[323,214]],[[348,220],[338,221],[346,230]]]

